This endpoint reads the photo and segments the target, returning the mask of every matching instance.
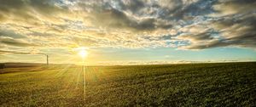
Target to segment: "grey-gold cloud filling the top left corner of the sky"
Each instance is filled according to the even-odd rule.
[[[58,5],[58,0],[0,0],[0,21],[22,25],[63,23],[59,15],[67,14],[67,10],[67,7]]]

